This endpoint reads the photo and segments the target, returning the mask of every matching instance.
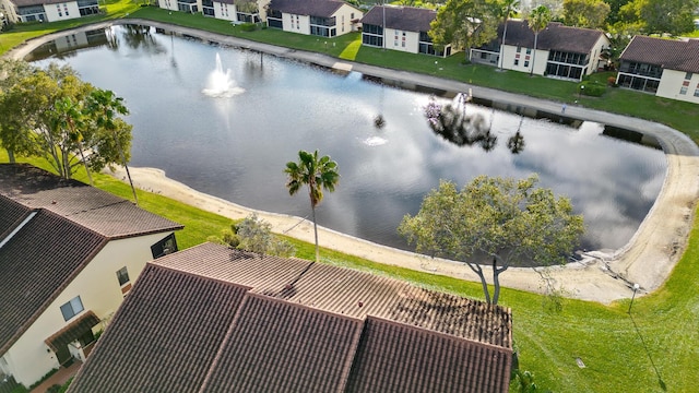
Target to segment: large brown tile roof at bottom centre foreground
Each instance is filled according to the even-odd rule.
[[[512,342],[511,312],[506,308],[367,273],[211,243],[153,261],[146,272],[71,392],[127,386],[169,392],[508,389]],[[205,283],[221,287],[208,289]],[[230,299],[224,295],[240,295],[241,288],[250,290]],[[190,317],[204,307],[198,299],[210,305],[213,297],[228,299],[218,310],[220,319]],[[224,338],[218,332],[226,329]],[[211,340],[202,343],[201,335]],[[151,343],[163,340],[168,350]],[[214,341],[220,344],[216,349]],[[203,383],[203,371],[185,378],[177,373],[193,367],[209,370]],[[152,383],[161,373],[191,383]]]

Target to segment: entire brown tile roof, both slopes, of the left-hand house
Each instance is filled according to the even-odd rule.
[[[109,240],[179,228],[79,181],[0,164],[0,354]]]

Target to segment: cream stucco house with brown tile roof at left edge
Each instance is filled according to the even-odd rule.
[[[29,385],[72,360],[75,338],[63,341],[88,334],[128,290],[117,270],[135,278],[151,246],[180,228],[82,182],[0,165],[0,372]]]

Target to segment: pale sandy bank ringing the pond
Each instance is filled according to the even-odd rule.
[[[121,20],[103,22],[70,32],[56,33],[32,39],[27,44],[13,49],[8,56],[23,58],[40,44],[58,36],[76,31],[107,27],[118,23],[144,23],[178,31],[204,40],[263,51],[280,57],[294,58],[324,67],[340,67],[378,78],[401,80],[406,83],[451,92],[466,92],[472,90],[474,96],[498,103],[537,108],[550,112],[560,110],[560,103],[471,86],[429,75],[380,69],[344,60],[339,61],[335,58],[321,53],[281,48],[268,44],[247,41],[240,38],[221,36],[188,27],[150,21]],[[667,158],[667,175],[653,207],[641,223],[633,238],[624,248],[609,253],[590,252],[580,263],[546,269],[546,275],[555,287],[565,291],[566,296],[603,303],[609,303],[621,298],[629,298],[632,294],[630,288],[633,283],[638,283],[641,286],[640,294],[656,289],[665,282],[679,260],[692,227],[695,203],[699,198],[699,148],[685,134],[651,121],[576,106],[569,106],[566,115],[578,119],[621,127],[656,138],[663,146]],[[132,167],[129,169],[131,170],[134,184],[140,189],[159,193],[232,219],[242,218],[252,212],[252,210],[247,207],[204,194],[183,183],[169,179],[163,170]],[[122,169],[118,169],[114,175],[120,179],[126,179]],[[295,216],[268,212],[257,213],[261,218],[272,225],[274,231],[313,242],[311,223]],[[467,266],[459,262],[428,259],[415,253],[357,239],[327,228],[319,227],[319,241],[323,247],[366,258],[375,262],[400,265],[467,281],[477,281],[475,274],[473,274]],[[488,276],[487,272],[486,276]],[[510,288],[536,293],[542,293],[545,289],[542,270],[538,269],[510,267],[500,276],[500,281],[503,286]]]

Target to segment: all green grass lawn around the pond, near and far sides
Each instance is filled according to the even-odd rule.
[[[572,102],[578,84],[546,78],[530,78],[518,72],[496,72],[495,68],[465,66],[463,53],[448,59],[406,55],[365,48],[357,44],[358,35],[321,40],[275,29],[242,32],[224,21],[169,14],[155,8],[140,8],[121,0],[107,2],[107,14],[70,23],[17,26],[0,34],[0,51],[24,39],[72,27],[86,21],[131,16],[158,20],[197,28],[211,29],[244,38],[283,45],[292,48],[325,51],[342,57],[388,68],[424,72],[476,85],[507,90],[537,97]],[[333,45],[334,44],[334,45]],[[435,63],[437,61],[437,63]],[[592,80],[606,81],[605,74]],[[647,94],[608,88],[600,98],[582,97],[582,105],[629,116],[652,119],[675,127],[695,141],[699,140],[699,105],[656,98]],[[7,162],[4,152],[0,162]],[[32,163],[47,168],[40,159]],[[84,174],[78,178],[86,181]],[[130,199],[129,187],[105,175],[95,175],[95,184]],[[164,196],[139,191],[143,209],[185,225],[177,234],[180,248],[198,245],[230,225],[230,221],[203,212]],[[695,221],[696,222],[696,221]],[[293,240],[297,257],[312,260],[313,247]],[[322,245],[322,238],[320,239]],[[321,251],[323,262],[399,277],[408,282],[463,296],[482,299],[478,284],[431,275],[405,269],[377,264],[331,250]],[[689,392],[699,386],[699,225],[695,225],[689,247],[667,283],[654,294],[637,298],[632,317],[627,313],[629,300],[603,306],[594,302],[562,299],[562,309],[547,297],[503,288],[501,305],[513,310],[516,345],[520,352],[520,368],[532,371],[540,388],[556,392]],[[507,272],[505,273],[507,274]],[[569,288],[573,290],[573,288]],[[580,358],[584,368],[577,364]]]

